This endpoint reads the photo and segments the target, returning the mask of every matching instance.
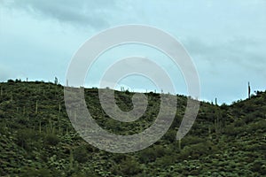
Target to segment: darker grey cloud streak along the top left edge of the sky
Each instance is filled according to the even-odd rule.
[[[60,22],[94,28],[109,27],[106,20],[110,11],[115,11],[115,1],[70,1],[70,0],[14,0],[2,2],[11,9],[19,9],[35,17],[57,19]],[[1,4],[1,3],[0,3]]]

